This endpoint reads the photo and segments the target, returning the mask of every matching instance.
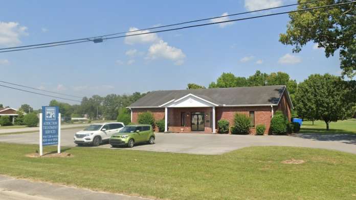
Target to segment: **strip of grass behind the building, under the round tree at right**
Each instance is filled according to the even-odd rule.
[[[330,122],[329,128],[330,130],[326,131],[326,123],[324,121],[314,121],[314,126],[311,121],[303,121],[299,133],[356,134],[356,119]]]

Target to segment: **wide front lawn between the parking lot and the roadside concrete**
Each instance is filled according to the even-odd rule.
[[[73,158],[25,157],[37,148],[0,143],[0,174],[165,199],[356,198],[356,155],[337,151],[256,146],[204,156],[71,147]],[[290,159],[306,162],[281,163]]]

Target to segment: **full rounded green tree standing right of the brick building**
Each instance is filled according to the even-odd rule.
[[[331,121],[346,119],[354,104],[345,98],[349,93],[343,81],[328,73],[312,74],[299,84],[296,110],[302,118],[323,120],[326,130]],[[345,100],[346,99],[346,100]]]

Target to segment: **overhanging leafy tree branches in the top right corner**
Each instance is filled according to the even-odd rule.
[[[306,0],[298,0],[305,2]],[[349,2],[326,0],[299,5],[298,9]],[[294,53],[301,51],[307,42],[317,43],[325,56],[333,56],[340,50],[340,68],[343,76],[352,78],[356,74],[356,5],[347,4],[325,9],[315,9],[289,14],[287,31],[280,34],[279,41],[293,45]]]

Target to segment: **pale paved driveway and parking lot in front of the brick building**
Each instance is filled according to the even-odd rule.
[[[80,129],[62,130],[62,146],[76,146],[73,135]],[[0,142],[38,144],[38,133],[2,135]],[[333,149],[356,154],[356,135],[347,134],[296,134],[293,136],[254,136],[201,133],[157,133],[155,144],[133,148],[112,148],[109,144],[99,148],[132,149],[154,152],[187,154],[224,154],[248,146],[300,146]],[[87,147],[83,147],[87,148]]]

